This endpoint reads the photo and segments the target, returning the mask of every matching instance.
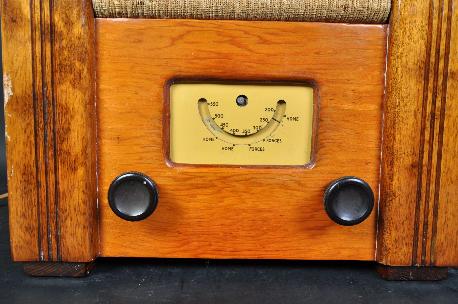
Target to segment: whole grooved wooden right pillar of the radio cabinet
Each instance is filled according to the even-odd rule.
[[[457,112],[450,104],[456,83],[448,80],[450,38],[456,33],[452,5],[452,0],[393,3],[377,244],[382,264],[451,266],[458,261],[456,237],[450,243],[442,239],[441,247],[436,242],[438,234],[458,230],[452,215],[458,211],[452,193],[457,175],[442,169],[457,145]],[[447,186],[441,182],[446,175]]]

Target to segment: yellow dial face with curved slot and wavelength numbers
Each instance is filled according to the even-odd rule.
[[[175,82],[170,159],[218,165],[310,162],[313,89],[271,83]]]

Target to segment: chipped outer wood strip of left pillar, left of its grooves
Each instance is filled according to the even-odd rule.
[[[11,256],[39,261],[32,5],[2,1],[0,6]]]

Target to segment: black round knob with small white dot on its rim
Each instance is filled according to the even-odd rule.
[[[126,172],[115,178],[108,189],[111,210],[126,221],[149,217],[158,206],[158,187],[147,175]]]

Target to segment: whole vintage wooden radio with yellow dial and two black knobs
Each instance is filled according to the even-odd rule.
[[[391,280],[458,266],[457,1],[1,5],[26,273],[84,276],[99,256],[376,261]]]

